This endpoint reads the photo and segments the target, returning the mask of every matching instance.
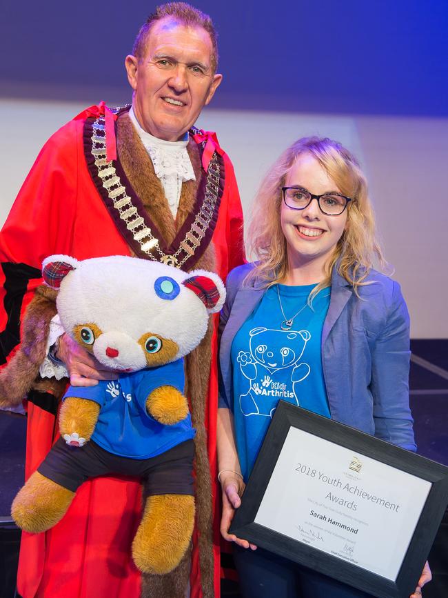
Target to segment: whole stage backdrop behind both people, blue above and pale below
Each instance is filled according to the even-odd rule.
[[[447,0],[196,1],[220,32],[224,74],[198,125],[234,161],[245,215],[298,137],[338,139],[369,178],[415,338],[447,338]],[[155,3],[0,8],[0,221],[50,134],[85,106],[130,100],[123,68]]]

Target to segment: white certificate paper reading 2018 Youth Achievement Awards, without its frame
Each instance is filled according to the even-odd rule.
[[[395,581],[431,486],[292,427],[254,521]]]

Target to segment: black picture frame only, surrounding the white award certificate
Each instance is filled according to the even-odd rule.
[[[395,581],[254,522],[291,427],[299,428],[431,483],[429,494],[422,504],[420,517]],[[230,533],[378,598],[407,598],[416,589],[447,504],[448,468],[446,466],[342,423],[321,417],[285,401],[279,401],[247,482],[241,507],[236,510]]]

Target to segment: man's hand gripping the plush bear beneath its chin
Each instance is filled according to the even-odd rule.
[[[59,337],[57,358],[65,363],[72,386],[96,386],[99,380],[116,380],[115,370],[105,368],[67,334]]]

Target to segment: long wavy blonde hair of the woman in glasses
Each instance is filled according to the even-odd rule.
[[[335,266],[358,295],[358,287],[368,284],[365,278],[374,264],[384,270],[387,262],[376,238],[374,211],[359,163],[338,141],[327,138],[298,139],[283,152],[263,179],[249,227],[250,250],[258,262],[248,278],[255,278],[262,287],[269,287],[283,280],[287,274],[287,244],[280,220],[281,188],[285,186],[287,174],[298,156],[305,153],[320,163],[343,195],[352,198],[347,206],[346,230],[325,264],[325,279],[314,288],[308,301],[311,304],[313,297],[330,285]]]

